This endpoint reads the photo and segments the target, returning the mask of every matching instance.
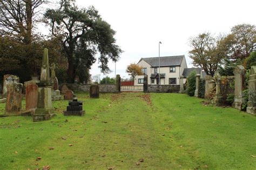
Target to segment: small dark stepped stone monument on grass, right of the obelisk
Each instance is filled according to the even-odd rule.
[[[74,98],[73,101],[69,101],[69,106],[66,107],[66,111],[63,113],[64,115],[83,116],[85,114],[85,111],[83,111],[83,101],[77,101],[77,98]]]

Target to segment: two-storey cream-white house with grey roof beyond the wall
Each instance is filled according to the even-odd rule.
[[[143,67],[148,84],[159,84],[159,57],[141,58],[137,65]],[[187,68],[185,56],[160,57],[160,84],[179,85],[180,76]],[[136,76],[134,85],[143,85],[144,76]]]

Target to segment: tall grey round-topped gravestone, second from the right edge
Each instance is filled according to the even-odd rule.
[[[242,103],[245,102],[245,74],[246,70],[243,66],[238,65],[234,69],[234,103],[232,106],[241,110]]]

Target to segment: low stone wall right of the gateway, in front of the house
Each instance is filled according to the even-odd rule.
[[[178,93],[180,85],[147,85],[147,92],[152,93]]]

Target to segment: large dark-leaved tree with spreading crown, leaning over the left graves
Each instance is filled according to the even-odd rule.
[[[62,35],[60,42],[69,63],[69,83],[73,83],[78,66],[90,70],[97,52],[102,72],[109,71],[109,59],[118,60],[122,50],[116,45],[116,32],[93,6],[79,9],[73,1],[61,0],[58,9],[48,9],[44,16],[52,35]]]

